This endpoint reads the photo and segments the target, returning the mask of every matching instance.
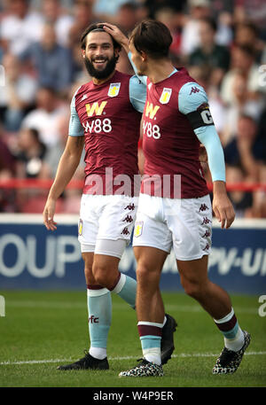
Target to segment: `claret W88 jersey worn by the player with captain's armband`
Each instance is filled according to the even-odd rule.
[[[184,68],[161,82],[153,83],[147,78],[146,84],[143,113],[145,176],[141,192],[171,199],[206,195],[207,183],[199,160],[200,141],[180,105],[184,100],[193,104],[195,99],[197,110],[202,103],[197,104],[198,93],[204,92],[204,98],[205,91]],[[189,92],[180,97],[186,84],[189,84]]]

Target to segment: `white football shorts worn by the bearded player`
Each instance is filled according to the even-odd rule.
[[[78,239],[82,253],[121,258],[137,214],[137,197],[82,194]]]

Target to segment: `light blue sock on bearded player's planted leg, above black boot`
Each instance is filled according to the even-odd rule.
[[[97,359],[106,357],[107,337],[112,320],[111,292],[101,286],[87,288],[89,313],[90,355]]]

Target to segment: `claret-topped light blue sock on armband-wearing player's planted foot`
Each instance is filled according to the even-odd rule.
[[[137,329],[145,360],[160,365],[160,340],[162,323],[138,322]]]

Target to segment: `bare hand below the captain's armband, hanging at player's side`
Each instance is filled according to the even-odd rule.
[[[214,193],[213,210],[215,217],[221,222],[221,228],[230,228],[235,219],[235,211],[226,193]]]

